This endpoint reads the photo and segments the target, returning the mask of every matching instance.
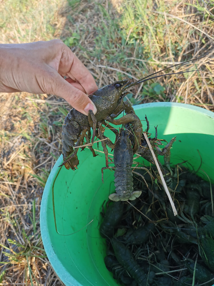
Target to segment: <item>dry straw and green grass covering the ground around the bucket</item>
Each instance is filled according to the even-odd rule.
[[[128,6],[120,2],[70,0],[62,6],[59,0],[0,1],[1,42],[60,37],[90,69],[98,86],[127,74],[139,79],[214,53],[211,2],[199,6],[194,0],[188,5],[141,1],[147,3],[142,9],[135,1],[130,10],[133,1]],[[200,71],[154,79],[141,89],[135,86],[128,100],[183,102],[213,110],[213,65],[212,58],[180,65],[173,71]],[[0,285],[63,285],[45,257],[39,213],[43,187],[60,155],[57,124],[70,106],[52,95],[26,93],[0,94],[0,102]]]

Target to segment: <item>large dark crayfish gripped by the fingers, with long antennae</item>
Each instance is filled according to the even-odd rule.
[[[185,63],[189,61],[185,61]],[[170,67],[174,67],[179,64],[172,65]],[[162,69],[159,72],[162,72],[170,67]],[[106,126],[107,128],[113,129],[108,124],[109,122],[115,125],[127,123],[131,125],[132,130],[134,130],[133,153],[135,154],[141,143],[142,124],[138,116],[136,116],[132,106],[128,102],[123,101],[124,97],[129,93],[125,92],[125,90],[152,78],[165,76],[160,75],[148,78],[159,72],[146,76],[140,80],[137,80],[136,82],[131,82],[128,79],[120,80],[96,90],[93,94],[89,96],[89,98],[92,100],[92,102],[97,108],[96,115],[93,114],[92,110],[89,110],[88,116],[86,116],[72,108],[65,117],[64,124],[62,126],[62,154],[64,160],[62,165],[64,165],[66,169],[71,168],[72,170],[75,170],[77,168],[79,160],[77,158],[78,148],[76,147],[84,149],[84,147],[81,147],[82,142],[84,138],[86,138],[86,143],[90,142],[91,128],[93,128],[91,143],[94,143],[95,135],[97,138],[102,140],[101,144],[106,158],[106,167],[108,167],[108,151],[106,145],[108,145],[111,149],[114,149],[114,144],[108,138],[106,138],[104,134],[102,134],[102,125]],[[170,74],[179,73],[184,72]],[[115,119],[123,111],[125,111],[126,115],[122,116],[119,119]],[[105,120],[108,123],[106,123]],[[113,130],[113,132],[115,131]],[[74,150],[73,147],[75,147],[76,150]],[[92,146],[89,146],[89,149],[95,157],[96,154]]]

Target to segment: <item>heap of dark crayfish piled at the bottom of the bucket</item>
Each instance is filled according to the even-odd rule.
[[[214,284],[213,194],[209,182],[182,166],[167,173],[174,190],[174,216],[156,170],[134,178],[142,195],[108,202],[100,235],[106,238],[106,267],[114,279],[130,286]],[[142,172],[142,171],[141,171]],[[211,200],[212,196],[212,200]]]

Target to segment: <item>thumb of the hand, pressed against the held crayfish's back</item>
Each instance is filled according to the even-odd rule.
[[[51,72],[49,83],[51,83],[51,90],[47,93],[64,98],[73,108],[85,115],[88,115],[90,109],[96,114],[96,106],[90,98],[84,92],[69,84],[57,72]]]

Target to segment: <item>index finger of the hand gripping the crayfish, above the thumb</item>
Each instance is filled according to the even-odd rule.
[[[71,64],[70,71],[67,73],[67,75],[75,77],[87,94],[91,94],[98,89],[92,74],[76,57],[76,55],[74,55],[73,57],[73,62]]]

